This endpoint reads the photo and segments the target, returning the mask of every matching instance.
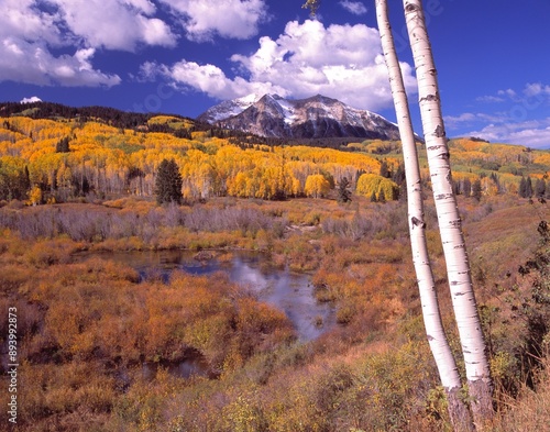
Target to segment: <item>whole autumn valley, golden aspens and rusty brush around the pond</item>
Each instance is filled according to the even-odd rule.
[[[173,115],[30,110],[0,109],[0,309],[16,309],[20,358],[13,430],[451,431],[421,319],[399,142],[285,145]],[[495,381],[485,430],[542,431],[550,152],[476,139],[449,146]],[[143,278],[111,259],[173,250],[198,261],[267,256],[265,272],[307,275],[336,324],[300,341],[282,310],[224,274]],[[195,356],[206,374],[172,372]]]

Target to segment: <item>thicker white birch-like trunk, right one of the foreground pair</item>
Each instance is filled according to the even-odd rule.
[[[457,198],[452,189],[449,147],[431,46],[420,0],[404,0],[410,46],[418,79],[418,97],[428,164],[443,244],[452,304],[464,355],[472,412],[476,427],[493,417],[493,384],[474,297]]]

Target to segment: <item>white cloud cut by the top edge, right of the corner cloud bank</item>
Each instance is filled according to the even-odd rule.
[[[245,40],[257,34],[267,19],[264,0],[161,0],[182,22],[187,37],[211,40],[215,35]]]

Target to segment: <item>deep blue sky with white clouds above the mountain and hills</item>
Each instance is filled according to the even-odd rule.
[[[374,0],[0,0],[0,100],[196,117],[251,92],[395,121]],[[403,2],[389,0],[421,133]],[[449,136],[550,148],[550,1],[425,0]]]

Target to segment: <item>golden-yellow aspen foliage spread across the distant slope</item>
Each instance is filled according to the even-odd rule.
[[[209,131],[179,139],[172,133],[145,133],[143,129],[120,130],[98,121],[13,117],[7,123],[9,130],[0,128],[0,157],[16,159],[7,165],[29,166],[31,180],[40,184],[43,192],[62,200],[84,193],[85,184],[98,195],[152,196],[155,170],[163,158],[174,158],[180,167],[188,201],[224,195],[262,199],[312,196],[310,190],[306,191],[309,176],[321,174],[333,187],[343,177],[355,179],[361,174],[380,171],[381,162],[366,153],[391,152],[385,156],[391,166],[400,159],[399,142],[365,141],[348,146],[365,153],[260,144],[240,148],[228,140],[210,136]],[[169,115],[154,117],[148,124],[175,131],[191,126],[190,121]],[[57,142],[66,137],[70,151],[56,153]],[[475,176],[481,173],[488,176],[490,171],[498,173],[498,177],[509,174],[517,177],[532,164],[537,167],[532,176],[550,171],[548,152],[465,139],[451,141],[450,149],[455,181],[464,178],[473,181]],[[427,168],[421,170],[427,178]],[[505,180],[501,191],[517,190],[517,178]],[[388,199],[392,188],[384,184],[382,189]],[[485,195],[492,195],[493,189],[485,185]]]

